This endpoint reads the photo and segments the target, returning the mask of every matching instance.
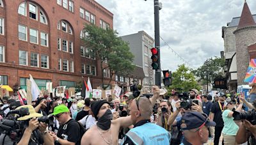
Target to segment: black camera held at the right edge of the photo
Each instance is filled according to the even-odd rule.
[[[256,111],[233,111],[234,120],[248,120],[252,125],[256,125]]]

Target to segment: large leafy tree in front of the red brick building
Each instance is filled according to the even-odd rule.
[[[96,25],[86,24],[84,32],[84,46],[90,48],[91,54],[100,62],[100,71],[102,72],[102,88],[104,86],[104,69],[109,69],[110,80],[113,80],[115,74],[127,75],[134,69],[132,61],[134,55],[129,52],[129,45],[117,36],[117,32],[112,29],[101,29]],[[106,63],[107,62],[107,63]],[[109,85],[109,83],[107,85]]]

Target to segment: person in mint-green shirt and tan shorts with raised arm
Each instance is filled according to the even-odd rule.
[[[222,130],[222,136],[225,145],[236,144],[236,134],[239,129],[238,125],[235,123],[233,118],[233,109],[240,111],[242,109],[243,102],[240,102],[239,106],[236,108],[236,100],[230,100],[222,113],[222,118],[224,122],[224,127]]]

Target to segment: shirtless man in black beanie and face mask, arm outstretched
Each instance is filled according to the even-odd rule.
[[[151,102],[156,102],[159,97],[159,88],[152,86],[153,97]],[[92,115],[97,120],[97,125],[93,126],[83,135],[81,144],[118,144],[118,134],[120,128],[132,125],[131,116],[111,120],[112,113],[108,101],[99,100],[91,104]]]

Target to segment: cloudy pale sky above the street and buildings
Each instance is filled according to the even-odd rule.
[[[113,13],[119,36],[145,31],[154,38],[154,0],[96,0]],[[161,68],[175,71],[184,64],[198,68],[206,59],[220,57],[224,50],[221,27],[240,17],[244,0],[159,0]],[[256,1],[247,0],[252,14]],[[166,42],[166,43],[164,43]],[[168,44],[168,45],[166,45]]]

